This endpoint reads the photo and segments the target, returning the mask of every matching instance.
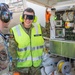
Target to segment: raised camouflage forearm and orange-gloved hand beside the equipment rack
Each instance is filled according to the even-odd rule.
[[[50,17],[51,17],[51,13],[48,10],[49,8],[46,8],[46,13],[45,13],[45,19],[46,19],[46,36],[50,37]]]

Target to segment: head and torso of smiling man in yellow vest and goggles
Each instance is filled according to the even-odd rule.
[[[11,28],[17,53],[17,70],[20,75],[40,75],[40,65],[44,51],[41,26],[35,21],[35,12],[26,8],[21,24]]]

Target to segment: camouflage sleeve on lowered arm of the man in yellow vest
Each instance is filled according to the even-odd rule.
[[[9,53],[12,56],[12,69],[16,69],[16,58],[17,58],[17,43],[15,42],[14,37],[9,38]]]

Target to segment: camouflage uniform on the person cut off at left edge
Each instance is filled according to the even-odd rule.
[[[0,75],[8,75],[9,72],[9,58],[5,39],[0,34]]]

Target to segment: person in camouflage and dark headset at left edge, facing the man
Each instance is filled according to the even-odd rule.
[[[0,3],[0,75],[9,74],[9,57],[6,37],[3,34],[4,28],[7,28],[10,20],[12,19],[12,13],[9,10],[9,6],[5,3]]]

